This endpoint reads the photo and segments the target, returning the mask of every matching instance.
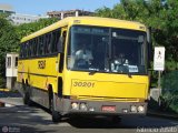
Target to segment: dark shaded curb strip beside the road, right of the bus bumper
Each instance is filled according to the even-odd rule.
[[[156,116],[156,117],[178,120],[178,114],[169,114],[169,113],[165,113],[165,112],[148,111],[147,115],[148,116]]]

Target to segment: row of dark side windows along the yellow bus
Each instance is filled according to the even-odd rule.
[[[49,31],[49,32],[47,32],[47,33],[44,33],[44,34],[41,34],[41,35],[39,35],[39,37],[36,37],[36,38],[33,38],[33,39],[30,39],[30,40],[28,40],[28,41],[24,41],[24,42],[21,42],[21,44],[20,44],[20,57],[19,57],[19,60],[26,60],[26,59],[38,59],[38,58],[46,58],[46,57],[57,57],[58,55],[58,53],[62,53],[63,52],[63,50],[62,50],[62,48],[65,47],[65,45],[62,45],[62,43],[61,43],[61,30],[62,28],[58,28],[58,29],[56,29],[56,30],[52,30],[52,31]],[[59,32],[59,33],[58,33]],[[49,37],[50,37],[50,39],[49,39],[49,47],[50,47],[50,51],[49,51],[49,53],[48,52],[46,52],[46,49],[47,49],[47,39],[46,39],[46,37],[49,34]],[[55,34],[55,38],[56,38],[56,40],[53,40],[53,34]],[[40,39],[42,39],[42,45],[43,45],[43,48],[42,48],[42,53],[40,53],[39,52],[39,50],[40,50]],[[57,41],[58,40],[58,41]],[[31,42],[30,43],[30,47],[29,47],[29,42]],[[57,42],[56,43],[56,50],[55,51],[52,51],[52,47],[55,45],[55,42]],[[61,47],[58,47],[58,44],[61,44]],[[44,48],[46,47],[46,48]],[[30,48],[32,48],[32,49],[30,49]],[[59,48],[61,48],[60,50],[59,50]],[[36,50],[34,50],[36,49]],[[29,53],[29,50],[32,50],[33,51],[33,55],[28,55],[28,53]]]

